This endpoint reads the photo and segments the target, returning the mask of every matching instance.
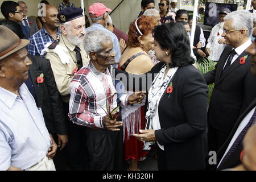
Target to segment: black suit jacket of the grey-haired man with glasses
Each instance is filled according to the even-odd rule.
[[[216,68],[204,74],[207,84],[215,84],[209,104],[208,122],[226,134],[230,134],[239,115],[256,97],[256,77],[249,71],[251,56],[247,57],[245,64],[240,64],[240,58],[248,55],[245,51],[222,74],[231,50],[231,46],[226,46]]]

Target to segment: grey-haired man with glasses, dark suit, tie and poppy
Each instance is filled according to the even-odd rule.
[[[226,15],[223,29],[228,46],[216,68],[204,75],[207,84],[215,84],[208,109],[209,151],[220,149],[239,115],[256,96],[256,87],[252,86],[256,78],[249,72],[250,55],[245,52],[251,44],[253,18],[249,11],[234,11]]]

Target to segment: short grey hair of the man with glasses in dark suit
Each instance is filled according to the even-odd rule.
[[[232,19],[232,27],[234,29],[248,29],[247,36],[251,36],[253,32],[253,15],[247,10],[237,10],[226,15],[225,20]]]

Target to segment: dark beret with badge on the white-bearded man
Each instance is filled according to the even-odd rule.
[[[60,23],[69,22],[81,16],[84,15],[82,15],[82,9],[79,7],[66,7],[57,14]]]

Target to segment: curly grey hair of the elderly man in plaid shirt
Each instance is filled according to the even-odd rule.
[[[102,30],[89,31],[85,34],[84,49],[88,55],[90,52],[100,52],[103,47],[102,43],[112,41],[112,38]],[[112,41],[113,42],[113,41]]]

